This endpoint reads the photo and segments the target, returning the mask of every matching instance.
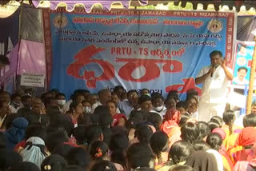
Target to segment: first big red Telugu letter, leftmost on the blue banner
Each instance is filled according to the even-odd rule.
[[[87,80],[86,86],[88,88],[96,88],[97,81],[110,80],[111,78],[114,78],[114,66],[112,66],[109,62],[98,59],[90,59],[102,50],[105,49],[97,48],[94,45],[83,48],[74,56],[76,61],[67,67],[67,74],[73,76],[74,78]],[[95,77],[95,72],[93,70],[84,71],[83,75],[80,75],[79,71],[82,69],[82,67],[90,63],[97,63],[98,65],[102,66],[102,75]]]

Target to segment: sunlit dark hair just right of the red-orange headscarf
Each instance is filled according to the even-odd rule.
[[[187,122],[183,125],[181,131],[182,140],[189,142],[191,145],[200,138],[198,126],[192,122]]]

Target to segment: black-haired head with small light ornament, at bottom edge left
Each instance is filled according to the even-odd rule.
[[[42,161],[41,171],[62,171],[66,165],[67,162],[62,156],[51,154]]]

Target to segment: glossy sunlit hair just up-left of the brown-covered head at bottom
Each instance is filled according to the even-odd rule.
[[[186,161],[191,153],[193,153],[193,147],[190,143],[177,141],[171,146],[168,158],[171,158],[174,164],[178,164],[182,161]]]

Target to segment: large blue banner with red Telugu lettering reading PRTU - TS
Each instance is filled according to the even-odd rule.
[[[166,10],[44,10],[50,88],[123,85],[165,94],[200,88],[194,78],[221,50],[232,68],[234,13]]]

